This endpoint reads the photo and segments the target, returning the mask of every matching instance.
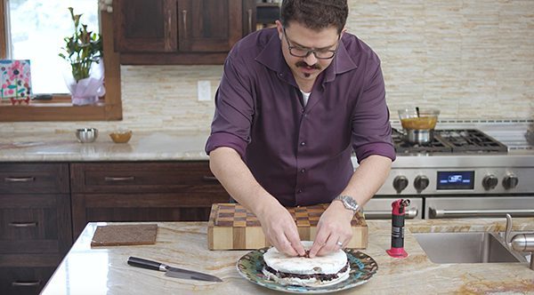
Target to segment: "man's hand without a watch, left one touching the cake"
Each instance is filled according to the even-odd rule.
[[[304,256],[295,220],[286,208],[277,204],[257,215],[257,218],[262,224],[263,234],[278,251],[289,256]]]

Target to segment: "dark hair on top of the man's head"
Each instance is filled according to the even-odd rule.
[[[314,30],[334,26],[337,34],[343,30],[348,15],[346,0],[284,0],[280,9],[280,20],[284,27],[295,20]]]

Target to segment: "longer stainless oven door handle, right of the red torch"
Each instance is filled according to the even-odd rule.
[[[447,219],[461,217],[503,217],[510,214],[514,217],[534,217],[532,209],[489,209],[489,210],[445,210],[429,208],[431,219]]]

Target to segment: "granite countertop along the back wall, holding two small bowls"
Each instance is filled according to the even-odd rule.
[[[92,143],[80,143],[74,132],[0,133],[0,162],[193,161],[207,160],[209,132],[134,132],[127,143],[115,143],[101,132]]]

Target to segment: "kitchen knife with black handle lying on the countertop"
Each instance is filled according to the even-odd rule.
[[[128,258],[128,264],[132,267],[142,267],[152,270],[159,270],[165,272],[165,275],[177,277],[181,279],[187,279],[187,280],[198,280],[198,281],[206,281],[206,282],[223,282],[220,278],[214,276],[214,275],[207,275],[203,273],[199,273],[196,271],[178,268],[178,267],[170,267],[166,264],[160,263],[158,261],[152,261],[149,259],[141,259],[138,257],[130,256]]]

